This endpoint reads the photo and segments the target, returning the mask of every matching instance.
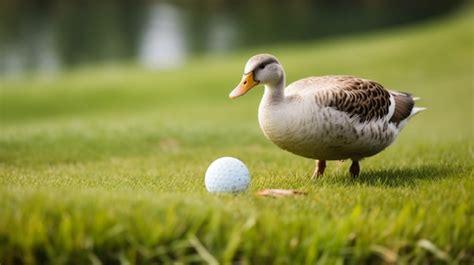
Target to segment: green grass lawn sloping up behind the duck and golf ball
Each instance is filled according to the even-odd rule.
[[[437,21],[322,42],[197,58],[183,69],[84,68],[0,84],[0,263],[472,264],[472,8]],[[257,122],[262,89],[229,91],[254,53],[288,81],[353,74],[422,98],[397,142],[362,162],[279,150]],[[248,192],[208,194],[221,156]],[[307,196],[261,198],[263,188]]]

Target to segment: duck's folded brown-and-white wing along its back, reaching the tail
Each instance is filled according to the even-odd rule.
[[[345,112],[360,122],[387,119],[400,124],[423,108],[415,108],[408,93],[389,91],[379,83],[353,76],[323,76],[301,80],[294,92],[312,90],[317,104]],[[306,94],[305,93],[305,94]]]

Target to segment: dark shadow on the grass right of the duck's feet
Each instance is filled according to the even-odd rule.
[[[400,187],[415,185],[420,180],[441,180],[460,174],[461,167],[445,165],[422,165],[398,169],[373,169],[352,179],[352,182],[371,186]]]

